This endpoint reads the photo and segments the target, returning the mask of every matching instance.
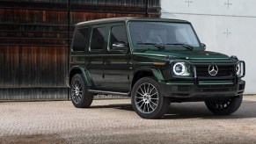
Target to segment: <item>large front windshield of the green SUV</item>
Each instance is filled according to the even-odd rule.
[[[167,47],[177,47],[185,44],[200,47],[199,41],[189,24],[168,22],[130,22],[129,29],[134,45],[159,44]],[[176,45],[175,45],[176,44]]]

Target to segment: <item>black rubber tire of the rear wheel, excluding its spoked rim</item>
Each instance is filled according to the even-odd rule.
[[[74,101],[73,101],[73,98],[72,98],[72,89],[73,89],[73,82],[78,79],[80,82],[81,82],[81,85],[82,85],[82,98],[81,98],[81,101],[76,104]],[[69,90],[69,94],[70,94],[70,97],[71,97],[71,101],[72,101],[72,104],[74,104],[75,107],[77,108],[86,108],[86,107],[89,107],[92,103],[92,100],[93,100],[93,96],[91,95],[91,93],[89,93],[88,91],[88,86],[87,84],[84,82],[84,78],[81,74],[76,74],[75,76],[72,77],[71,79],[71,83],[70,83],[70,90]]]

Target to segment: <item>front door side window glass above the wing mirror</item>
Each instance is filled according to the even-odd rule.
[[[113,43],[123,42],[128,44],[127,32],[124,25],[115,25],[111,28],[109,48],[112,49]]]

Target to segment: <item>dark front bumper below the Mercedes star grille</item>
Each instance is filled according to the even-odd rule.
[[[245,81],[238,83],[160,83],[165,97],[232,97],[244,93]]]

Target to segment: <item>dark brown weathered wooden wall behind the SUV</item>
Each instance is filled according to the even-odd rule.
[[[145,17],[146,0],[0,1],[0,100],[67,99],[74,25],[113,17]],[[159,17],[159,0],[149,1]]]

